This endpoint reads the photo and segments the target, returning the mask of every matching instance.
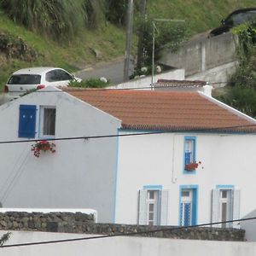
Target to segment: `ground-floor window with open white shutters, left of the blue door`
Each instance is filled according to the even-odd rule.
[[[168,191],[143,189],[139,192],[138,224],[166,225]]]

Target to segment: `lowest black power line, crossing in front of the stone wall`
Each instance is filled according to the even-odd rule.
[[[36,246],[36,245],[53,244],[53,243],[61,243],[61,242],[70,242],[70,241],[96,240],[96,239],[111,238],[111,237],[117,237],[117,236],[137,236],[137,235],[157,233],[157,232],[162,232],[162,231],[194,229],[194,228],[200,228],[200,227],[210,226],[210,225],[215,225],[215,224],[229,224],[229,223],[242,222],[242,221],[253,220],[253,219],[256,219],[256,217],[252,217],[252,218],[239,218],[239,219],[232,219],[232,220],[227,220],[227,221],[219,221],[219,222],[213,222],[213,223],[207,223],[207,224],[196,224],[196,225],[191,225],[191,226],[178,226],[178,227],[163,228],[163,229],[157,229],[157,230],[130,232],[130,233],[125,233],[125,234],[113,234],[113,235],[107,235],[107,236],[90,236],[90,237],[70,238],[70,239],[62,239],[62,240],[35,241],[35,242],[17,243],[17,244],[3,245],[2,248],[3,247]]]

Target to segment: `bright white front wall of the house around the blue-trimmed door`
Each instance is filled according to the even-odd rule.
[[[183,173],[184,136],[196,137],[195,174]],[[256,209],[255,135],[168,133],[119,137],[116,222],[137,224],[138,191],[145,185],[169,190],[168,224],[179,224],[180,185],[198,185],[198,224],[211,222],[212,189],[241,191],[240,217]],[[236,227],[236,224],[234,224]]]

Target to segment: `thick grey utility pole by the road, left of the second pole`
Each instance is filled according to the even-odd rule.
[[[133,21],[133,0],[128,0],[128,9],[126,17],[126,44],[125,44],[125,67],[124,67],[124,82],[129,80],[129,66],[131,55],[131,35]]]

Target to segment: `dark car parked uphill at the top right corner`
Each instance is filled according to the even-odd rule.
[[[253,19],[256,19],[256,8],[237,9],[224,20],[221,20],[222,25],[214,28],[210,32],[209,36],[214,37],[222,33],[229,32],[232,27],[250,22]]]

